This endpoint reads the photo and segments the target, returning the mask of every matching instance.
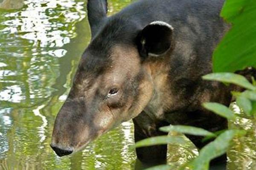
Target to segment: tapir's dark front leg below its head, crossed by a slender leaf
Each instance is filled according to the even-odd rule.
[[[154,122],[144,112],[140,113],[139,116],[133,119],[134,122],[134,138],[135,142],[140,140],[154,137],[167,135],[159,131],[159,127],[166,126],[166,122]],[[156,145],[150,147],[139,147],[136,148],[137,158],[143,162],[166,162],[167,145]]]

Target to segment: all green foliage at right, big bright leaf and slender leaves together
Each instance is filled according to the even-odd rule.
[[[250,83],[245,77],[234,74],[232,72],[243,70],[247,67],[256,68],[256,1],[254,0],[226,0],[221,11],[223,17],[228,23],[232,24],[232,28],[219,43],[213,54],[213,71],[221,73],[212,73],[203,76],[203,79],[209,81],[219,81],[226,85],[234,84],[245,88],[244,92],[233,91],[232,94],[236,98],[236,104],[246,113],[247,118],[255,120],[256,118],[256,82],[252,77]],[[204,103],[204,108],[212,111],[220,116],[223,116],[231,121],[236,121],[241,115],[235,114],[230,108],[219,103]],[[230,130],[224,130],[218,133],[208,132],[207,130],[198,127],[189,127],[183,125],[170,125],[161,127],[164,132],[175,131],[177,133],[186,133],[189,135],[206,136],[205,139],[216,137],[213,142],[210,142],[199,151],[199,156],[189,161],[180,170],[208,170],[209,162],[212,159],[226,153],[227,149],[236,136],[246,135],[246,130],[239,130],[236,127]],[[171,138],[177,136],[168,136],[168,141],[163,141],[161,136],[161,144],[168,144],[169,141],[174,141]],[[157,139],[157,138],[155,138]],[[157,144],[159,141],[151,139],[143,140],[144,146]],[[142,145],[140,144],[140,147]],[[170,165],[160,165],[149,168],[148,170],[173,169]],[[177,168],[176,168],[177,169]]]

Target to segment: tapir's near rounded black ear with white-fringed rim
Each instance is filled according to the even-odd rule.
[[[163,21],[154,21],[145,26],[137,36],[137,45],[142,57],[161,56],[172,45],[173,28]]]

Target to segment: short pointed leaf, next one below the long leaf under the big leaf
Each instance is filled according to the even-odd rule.
[[[227,106],[221,105],[219,103],[214,103],[214,102],[204,103],[203,106],[209,111],[212,111],[229,120],[236,119],[236,115],[229,108],[227,108]]]

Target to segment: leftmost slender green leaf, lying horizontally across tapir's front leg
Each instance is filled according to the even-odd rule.
[[[148,139],[143,139],[135,144],[135,147],[145,147],[158,144],[168,143],[184,143],[184,140],[177,136],[156,136]]]

